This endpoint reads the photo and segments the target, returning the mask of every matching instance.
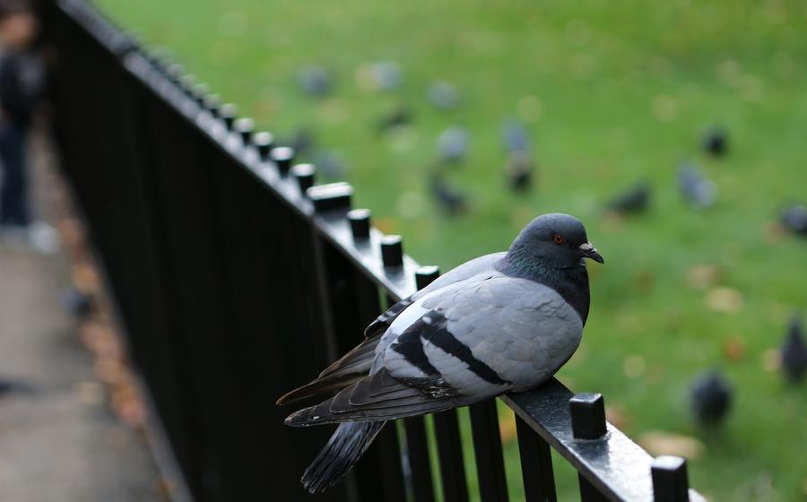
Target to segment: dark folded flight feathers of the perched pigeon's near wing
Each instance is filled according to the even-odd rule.
[[[435,383],[438,385],[438,383]],[[444,411],[460,405],[452,395],[424,393],[382,368],[331,399],[289,415],[286,424],[306,427],[348,421],[395,420]]]

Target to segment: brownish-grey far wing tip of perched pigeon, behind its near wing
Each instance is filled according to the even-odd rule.
[[[381,334],[365,339],[356,348],[338,359],[308,384],[283,394],[276,404],[299,401],[312,395],[342,389],[355,384],[368,375],[375,359],[376,346]]]

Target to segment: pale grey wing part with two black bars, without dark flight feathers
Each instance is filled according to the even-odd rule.
[[[497,274],[415,302],[387,331],[394,340],[382,340],[377,351],[392,376],[438,379],[479,400],[540,385],[574,353],[582,330],[554,290]]]

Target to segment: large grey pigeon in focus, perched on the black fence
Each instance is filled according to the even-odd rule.
[[[386,420],[525,392],[549,379],[577,350],[586,325],[584,258],[604,263],[583,224],[544,214],[507,252],[462,264],[378,316],[355,349],[277,402],[339,391],[286,419],[292,427],[340,424],[303,486],[317,493],[342,479]]]

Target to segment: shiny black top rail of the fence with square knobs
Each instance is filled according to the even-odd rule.
[[[404,299],[416,288],[421,267],[404,255],[398,236],[385,236],[369,224],[369,211],[351,211],[351,186],[311,186],[311,169],[291,169],[293,151],[274,148],[271,134],[256,141],[247,124],[222,117],[218,103],[209,102],[178,66],[150,55],[134,38],[83,0],[58,0],[63,12],[171,108],[187,118],[210,141],[227,151],[243,169],[274,195],[311,219],[317,231],[349,258],[392,299]],[[251,121],[250,121],[251,122]],[[291,155],[290,155],[291,153]],[[572,393],[552,378],[534,391],[501,396],[516,415],[562,454],[605,498],[611,500],[706,500],[689,489],[686,463],[677,457],[653,458],[604,417],[602,396]]]

